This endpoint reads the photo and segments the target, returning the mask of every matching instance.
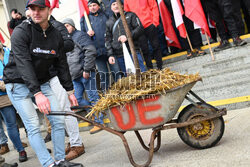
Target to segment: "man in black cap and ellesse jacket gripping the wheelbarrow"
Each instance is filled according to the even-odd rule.
[[[64,116],[50,113],[61,111],[49,80],[50,68],[66,89],[72,105],[77,106],[63,39],[48,20],[51,14],[49,0],[29,1],[31,18],[18,25],[11,37],[11,54],[5,66],[3,80],[6,91],[28,131],[29,143],[43,167],[82,167],[82,164],[65,160]],[[54,159],[42,138],[39,118],[33,105],[35,98],[39,111],[44,113],[52,127]]]

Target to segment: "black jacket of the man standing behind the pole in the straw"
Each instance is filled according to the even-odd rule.
[[[126,17],[129,29],[132,34],[135,49],[139,50],[138,38],[144,33],[143,26],[135,13],[125,12],[125,17]],[[113,16],[110,17],[109,20],[106,22],[105,45],[107,48],[107,55],[109,57],[110,56],[117,56],[117,57],[123,56],[122,43],[118,41],[118,38],[121,35],[126,35],[126,33],[122,24],[122,20],[119,18],[120,18],[119,15],[117,17],[115,14],[113,14]],[[119,19],[118,25],[113,29],[115,22],[118,19]],[[128,42],[126,42],[126,45],[128,46]]]

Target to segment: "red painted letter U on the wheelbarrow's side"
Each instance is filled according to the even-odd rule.
[[[135,113],[134,109],[131,104],[126,104],[125,106],[126,109],[121,110],[119,107],[113,107],[111,108],[111,112],[113,113],[117,125],[122,129],[122,130],[127,130],[131,129],[135,126],[136,124],[136,118],[135,118]],[[128,112],[129,116],[129,122],[127,124],[124,124],[122,115],[120,112]]]

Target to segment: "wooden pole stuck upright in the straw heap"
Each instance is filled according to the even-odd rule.
[[[132,40],[132,35],[131,35],[131,32],[130,32],[129,27],[128,27],[127,20],[126,20],[125,15],[124,15],[121,0],[116,0],[116,2],[118,4],[118,8],[119,8],[119,11],[120,11],[122,24],[124,26],[124,29],[125,29],[125,32],[126,32],[126,35],[127,35],[127,38],[128,38],[129,48],[130,48],[132,56],[133,56],[135,70],[136,70],[136,76],[139,78],[139,76],[140,76],[140,67],[139,67],[137,54],[136,54],[136,51],[135,51],[134,42]]]

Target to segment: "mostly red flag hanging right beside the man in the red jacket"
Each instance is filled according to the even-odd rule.
[[[174,46],[181,49],[180,42],[175,34],[172,20],[171,20],[171,14],[168,11],[168,8],[166,7],[163,0],[157,0],[159,8],[160,8],[160,15],[162,20],[162,25],[164,29],[164,34],[168,43],[168,46]]]

